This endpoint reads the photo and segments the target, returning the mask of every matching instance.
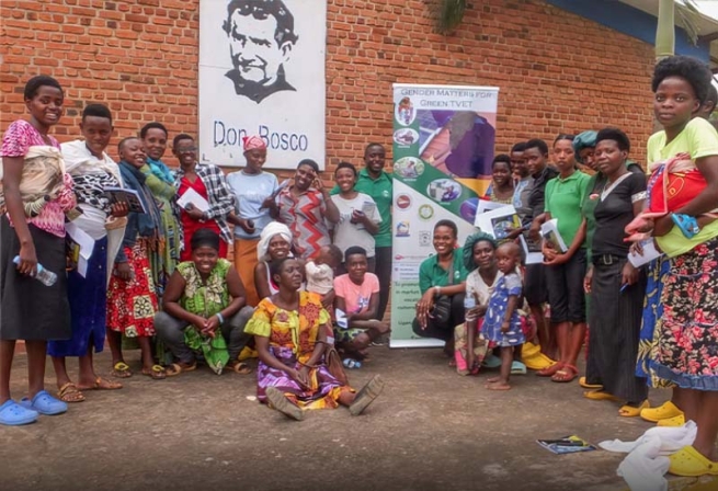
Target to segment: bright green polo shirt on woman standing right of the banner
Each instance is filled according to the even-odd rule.
[[[575,171],[566,179],[560,175],[546,183],[546,206],[545,212],[551,214],[551,218],[558,220],[558,231],[570,248],[573,243],[583,216],[583,198],[589,187],[591,176],[583,172]],[[585,247],[585,242],[582,247]]]

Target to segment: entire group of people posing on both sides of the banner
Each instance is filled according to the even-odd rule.
[[[498,156],[485,198],[513,205],[521,226],[499,240],[479,230],[458,244],[456,224],[437,221],[413,321],[417,335],[446,342],[459,374],[499,368],[491,390],[511,389],[511,375],[527,367],[570,382],[585,346],[586,398],[620,400],[622,416],[660,425],[697,423],[693,446],[671,456],[671,471],[684,476],[718,468],[710,80],[693,58],[657,65],[663,130],[648,141],[648,173],[614,127],[559,135],[550,151],[529,139]],[[1,424],[65,412],[88,390],[121,388],[93,368],[105,333],[116,378],[133,375],[123,357],[132,341],[152,379],[194,370],[198,361],[217,374],[247,374],[240,354],[251,345],[260,401],[295,420],[339,404],[360,414],[379,395],[378,376],[356,392],[344,368],[361,367],[389,332],[392,181],[381,145],[366,147],[358,171],[339,163],[332,190],[312,160],[299,162],[292,183],[278,183],[263,170],[267,149],[258,136],[243,140],[247,165],[225,175],[197,162],[192,136],[176,135],[173,172],[162,162],[169,134],[160,123],[124,138],[115,163],[106,106],[88,105],[83,138],[60,146],[48,134],[62,115],[60,84],[35,77],[24,96],[30,122],[8,128],[1,151]],[[547,222],[562,241],[544,237]],[[94,243],[89,255],[76,243],[82,236]],[[543,262],[526,264],[525,244]],[[652,249],[662,255],[641,261]],[[20,402],[10,398],[16,340],[25,340],[29,363],[29,397]],[[57,398],[43,387],[46,353]],[[80,357],[77,382],[67,356]],[[649,387],[671,387],[673,398],[650,408]]]

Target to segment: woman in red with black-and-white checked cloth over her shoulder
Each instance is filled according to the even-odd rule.
[[[235,210],[235,199],[227,186],[224,172],[212,163],[197,162],[197,147],[194,138],[186,134],[174,137],[172,151],[180,161],[174,185],[178,196],[184,195],[189,190],[198,194],[207,202],[205,212],[196,205],[190,204],[179,210],[182,231],[184,232],[184,248],[181,260],[192,260],[192,236],[201,228],[208,228],[219,235],[219,256],[227,258],[231,231],[227,217]]]

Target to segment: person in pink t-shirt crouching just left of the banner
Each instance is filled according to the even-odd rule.
[[[358,246],[351,247],[344,259],[349,273],[334,278],[334,306],[346,313],[346,319],[334,330],[334,338],[337,345],[344,350],[345,366],[352,368],[366,356],[372,341],[389,332],[389,324],[377,319],[379,278],[367,272],[366,251]]]

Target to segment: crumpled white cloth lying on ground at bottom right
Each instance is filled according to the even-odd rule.
[[[669,455],[693,445],[697,426],[688,421],[683,426],[648,430],[635,442],[619,439],[601,442],[604,450],[628,454],[618,466],[617,475],[624,478],[631,491],[666,491],[663,478],[669,470]]]

